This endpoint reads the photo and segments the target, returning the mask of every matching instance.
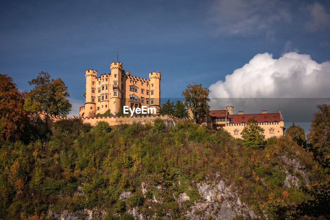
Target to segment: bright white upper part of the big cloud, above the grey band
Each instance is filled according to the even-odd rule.
[[[225,81],[210,85],[210,98],[214,98],[210,104],[212,109],[228,104],[215,98],[330,98],[329,78],[329,61],[317,63],[310,55],[297,52],[279,59],[269,53],[257,54]]]

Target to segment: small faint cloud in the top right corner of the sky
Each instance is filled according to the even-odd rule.
[[[330,14],[326,13],[320,3],[314,2],[314,4],[308,5],[305,10],[311,14],[311,20],[305,23],[309,31],[315,32],[330,26]]]

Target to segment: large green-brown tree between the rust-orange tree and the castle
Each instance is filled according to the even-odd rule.
[[[44,111],[64,116],[69,114],[72,105],[67,98],[70,94],[61,78],[50,80],[49,73],[41,71],[36,79],[29,81],[29,84],[35,85],[29,96],[40,103]]]

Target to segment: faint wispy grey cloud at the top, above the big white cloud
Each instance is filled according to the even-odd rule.
[[[210,21],[217,34],[270,33],[275,22],[291,20],[288,5],[279,0],[215,0]]]

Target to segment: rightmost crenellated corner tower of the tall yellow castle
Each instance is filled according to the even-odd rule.
[[[150,86],[150,108],[160,109],[160,77],[159,72],[149,73]]]

